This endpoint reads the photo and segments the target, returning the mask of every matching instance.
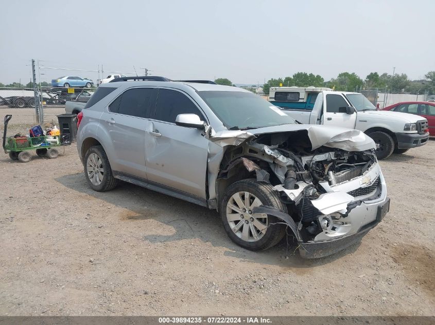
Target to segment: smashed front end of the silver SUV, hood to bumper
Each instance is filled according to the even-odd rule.
[[[217,194],[229,179],[270,183],[288,213],[270,206],[252,212],[283,220],[304,258],[328,256],[359,241],[389,210],[373,141],[356,130],[313,127],[245,134],[226,148],[217,175]]]

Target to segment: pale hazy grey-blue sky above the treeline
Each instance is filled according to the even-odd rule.
[[[260,83],[298,71],[422,79],[435,70],[435,1],[15,1],[2,4],[0,82],[41,66]],[[41,80],[97,72],[40,69]]]

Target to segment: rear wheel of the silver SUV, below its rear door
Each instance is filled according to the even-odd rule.
[[[93,190],[113,189],[118,180],[113,177],[109,159],[102,146],[92,146],[84,155],[84,176]]]

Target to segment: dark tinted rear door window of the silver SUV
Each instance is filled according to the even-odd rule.
[[[153,91],[153,88],[129,89],[109,105],[109,110],[114,113],[145,118]]]

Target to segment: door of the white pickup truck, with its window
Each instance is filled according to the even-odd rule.
[[[327,93],[325,97],[323,103],[324,105],[326,103],[326,111],[324,111],[323,124],[354,129],[357,114],[345,113],[345,107],[352,105],[341,94]]]

